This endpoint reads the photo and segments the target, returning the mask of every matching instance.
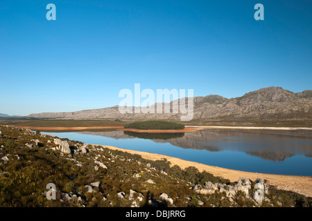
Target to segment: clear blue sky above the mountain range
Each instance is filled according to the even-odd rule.
[[[1,1],[0,113],[114,106],[135,83],[228,98],[312,89],[311,11],[310,0]]]

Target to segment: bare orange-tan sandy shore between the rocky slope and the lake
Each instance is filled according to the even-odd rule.
[[[96,145],[103,146],[103,145]],[[278,189],[283,189],[286,191],[293,191],[312,197],[312,177],[307,176],[297,176],[297,175],[275,175],[266,173],[251,173],[245,171],[235,171],[232,169],[224,169],[218,166],[209,166],[205,164],[200,164],[197,162],[191,162],[187,160],[182,160],[176,157],[169,157],[166,155],[160,155],[156,153],[147,153],[141,151],[131,151],[123,148],[118,148],[115,146],[103,146],[113,150],[125,151],[132,154],[139,154],[141,157],[147,160],[161,160],[166,158],[172,165],[180,166],[182,169],[188,166],[195,166],[199,171],[207,171],[215,176],[223,177],[229,179],[231,182],[239,180],[239,177],[247,177],[250,180],[257,180],[257,177],[268,180],[268,184],[277,186]]]

